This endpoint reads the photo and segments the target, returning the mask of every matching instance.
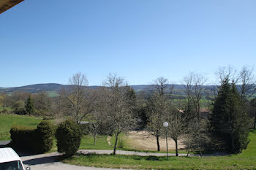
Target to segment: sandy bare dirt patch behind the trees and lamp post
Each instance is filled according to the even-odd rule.
[[[155,136],[149,135],[146,131],[130,131],[127,135],[127,143],[129,148],[135,150],[151,150],[157,151],[157,139]],[[168,150],[175,150],[175,142],[168,138]],[[159,139],[160,150],[166,150],[166,141],[163,138]],[[178,140],[178,149],[184,149],[185,145],[182,139]]]

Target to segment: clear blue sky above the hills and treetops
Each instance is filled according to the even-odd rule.
[[[25,0],[0,15],[0,87],[131,85],[255,66],[255,0]],[[256,68],[255,68],[256,69]]]

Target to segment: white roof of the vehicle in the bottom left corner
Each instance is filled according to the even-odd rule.
[[[10,161],[20,161],[20,157],[10,147],[0,148],[0,163]]]

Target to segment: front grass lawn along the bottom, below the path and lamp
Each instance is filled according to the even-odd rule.
[[[64,160],[79,166],[124,169],[256,169],[256,130],[249,135],[249,145],[238,155],[210,157],[166,157],[133,155],[80,155]]]

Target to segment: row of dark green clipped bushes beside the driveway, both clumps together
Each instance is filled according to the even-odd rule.
[[[12,146],[17,150],[30,152],[48,152],[53,147],[53,125],[43,120],[37,128],[14,125],[10,130]],[[78,151],[82,131],[80,126],[72,120],[60,123],[55,133],[58,152],[69,157]]]

